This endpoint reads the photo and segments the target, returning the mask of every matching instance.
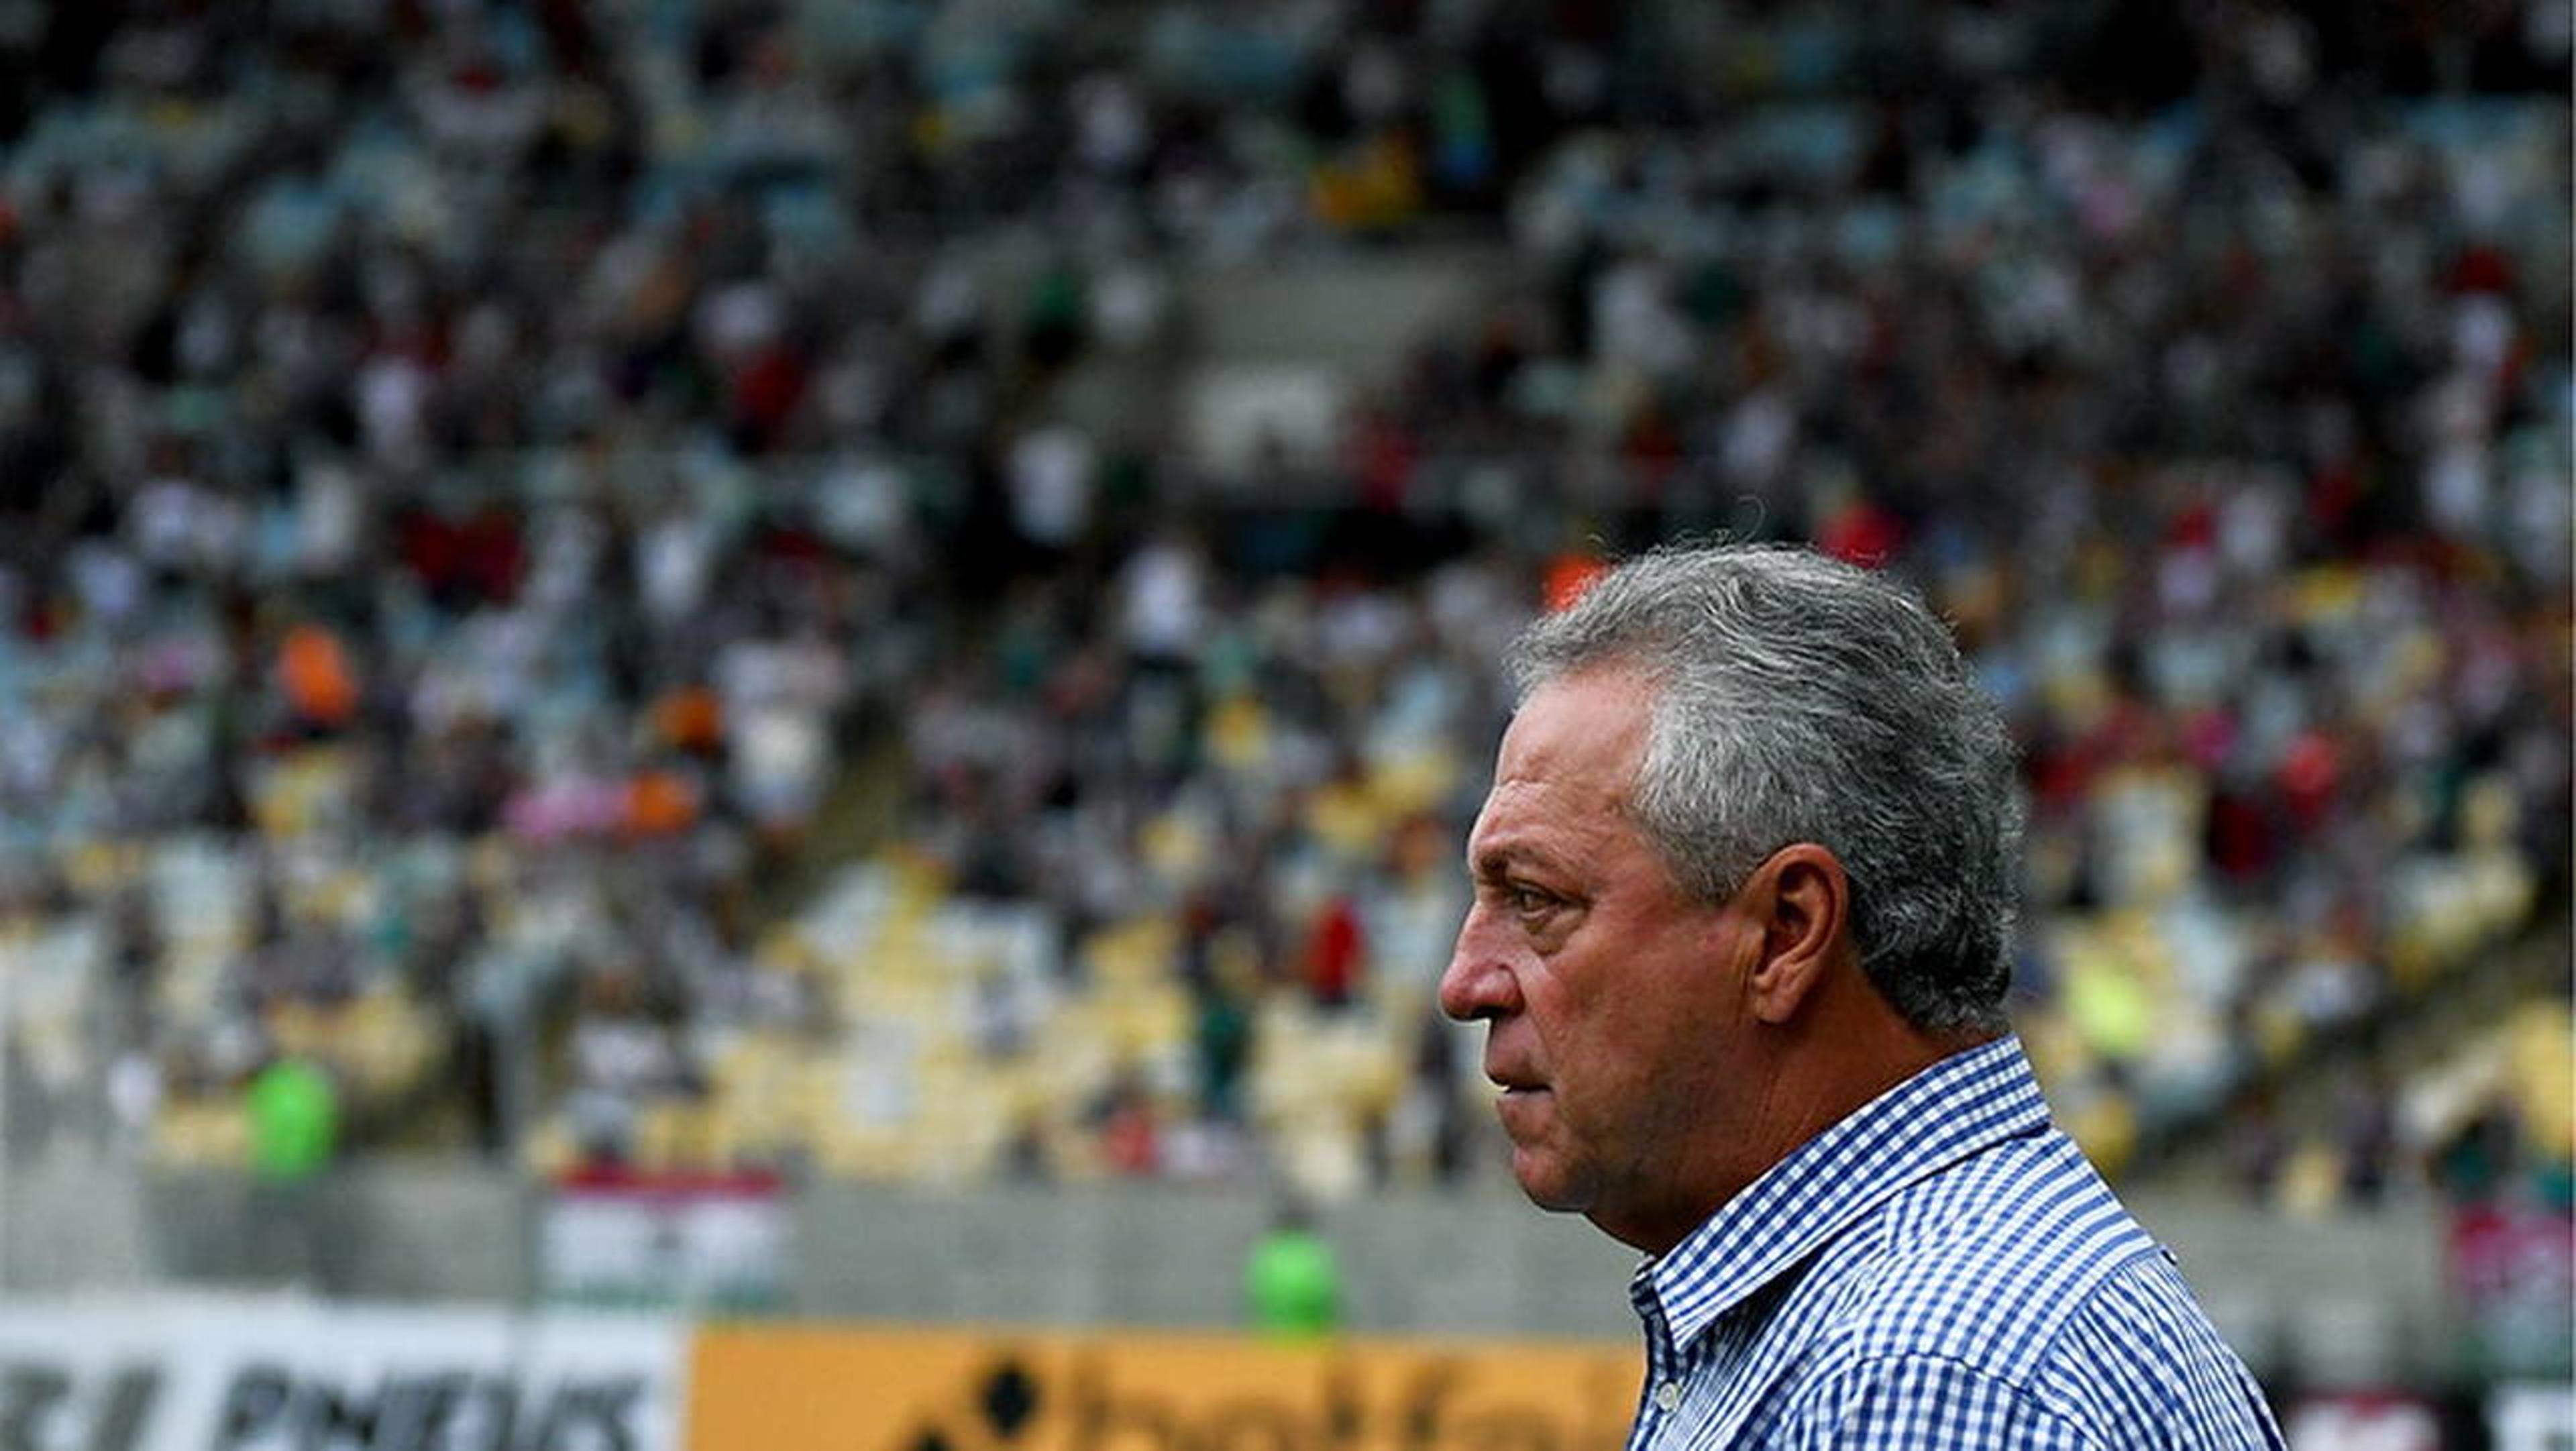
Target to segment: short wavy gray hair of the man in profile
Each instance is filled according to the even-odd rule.
[[[2022,794],[1950,629],[1806,549],[1664,546],[1512,649],[1520,696],[1597,665],[1654,686],[1631,812],[1680,887],[1723,902],[1790,843],[1852,881],[1878,992],[1927,1031],[2002,1031]]]

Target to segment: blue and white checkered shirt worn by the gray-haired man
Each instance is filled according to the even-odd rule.
[[[2017,1039],[1808,1139],[1636,1271],[1628,1451],[2282,1446]]]

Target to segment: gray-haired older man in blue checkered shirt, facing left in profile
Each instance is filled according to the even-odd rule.
[[[2009,1036],[2020,794],[1942,624],[1672,549],[1515,673],[1440,1003],[1530,1198],[1649,1255],[1631,1451],[2280,1446]]]

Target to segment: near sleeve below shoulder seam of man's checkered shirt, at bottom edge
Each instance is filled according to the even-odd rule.
[[[2025,1389],[1942,1356],[1873,1356],[1788,1410],[1785,1451],[2110,1451]]]

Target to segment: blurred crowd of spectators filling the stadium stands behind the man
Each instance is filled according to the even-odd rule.
[[[8,1137],[237,1160],[304,1054],[546,1170],[1471,1173],[1497,655],[1726,531],[1958,621],[2097,1155],[2566,1204],[2558,997],[2246,1098],[2563,920],[2566,72],[2543,0],[0,5]],[[1334,451],[1175,446],[1177,278],[1458,240]]]

